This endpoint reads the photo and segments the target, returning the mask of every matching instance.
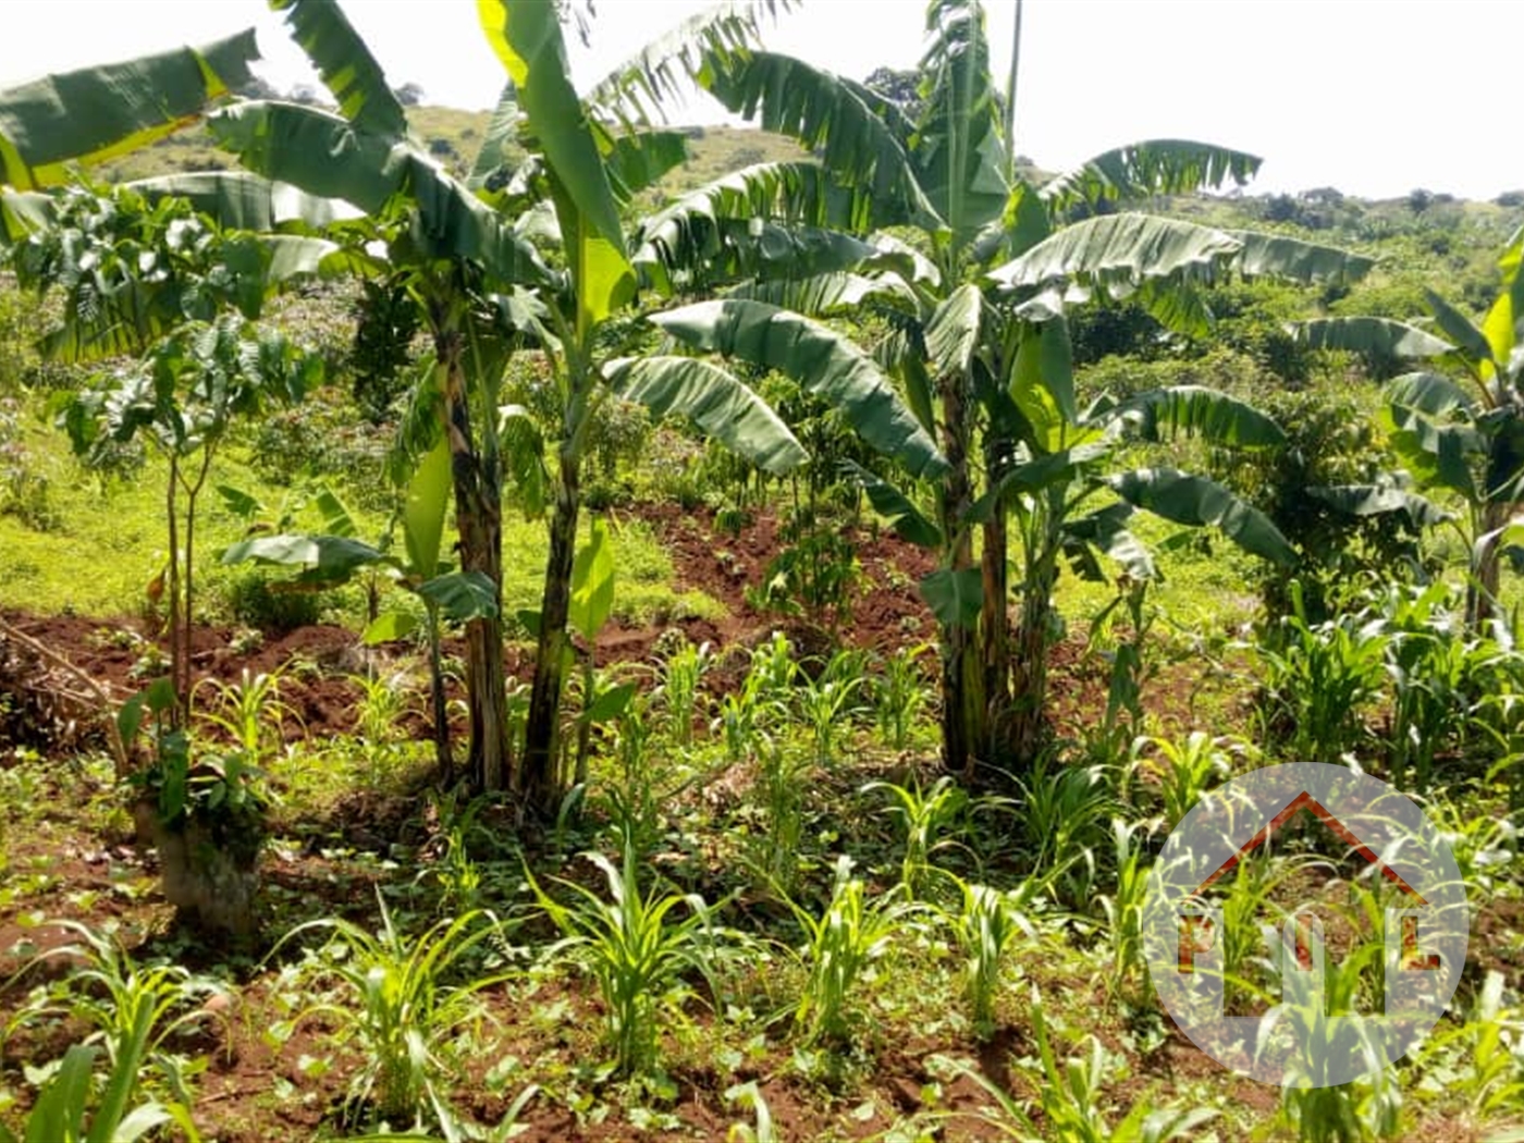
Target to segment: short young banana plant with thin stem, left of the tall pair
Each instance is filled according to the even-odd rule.
[[[439,651],[440,623],[469,623],[497,611],[498,588],[480,572],[454,572],[440,562],[445,515],[450,507],[450,447],[440,440],[419,460],[408,479],[402,507],[402,552],[372,546],[357,538],[344,506],[328,494],[320,497],[323,532],[280,533],[242,539],[223,552],[224,564],[255,561],[277,567],[300,567],[291,587],[322,590],[338,587],[363,570],[381,568],[424,608],[428,640],[430,706],[434,722],[434,759],[439,780],[454,780],[454,754],[445,706],[445,675]],[[410,636],[418,626],[407,610],[387,610],[372,619],[363,640],[383,643]]]

